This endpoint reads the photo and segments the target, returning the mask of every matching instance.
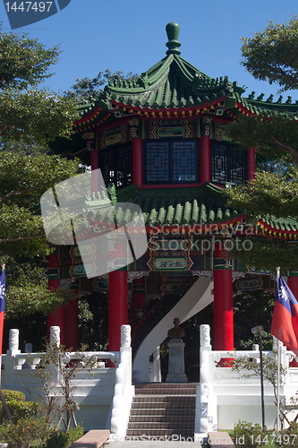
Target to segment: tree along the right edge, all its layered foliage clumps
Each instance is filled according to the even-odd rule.
[[[243,40],[243,65],[257,79],[277,82],[281,90],[298,86],[296,47],[298,44],[298,16],[289,23],[268,22],[262,32]],[[290,100],[289,100],[290,102]],[[240,148],[255,147],[265,159],[271,160],[259,168],[254,182],[226,190],[228,204],[248,211],[255,222],[262,218],[296,220],[298,216],[298,124],[292,112],[266,116],[239,116],[226,125],[226,134]],[[282,173],[279,160],[283,160]],[[286,172],[285,166],[290,173]],[[258,168],[257,168],[258,170]],[[247,264],[258,269],[275,271],[277,265],[289,270],[298,269],[298,249],[285,241],[268,237],[250,237],[252,247],[245,251],[231,251]]]

